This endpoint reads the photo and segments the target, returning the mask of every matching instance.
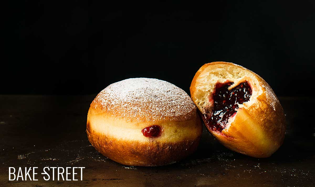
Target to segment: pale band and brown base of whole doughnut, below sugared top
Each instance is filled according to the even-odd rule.
[[[117,124],[114,124],[115,121],[113,121],[113,126],[109,133],[97,127],[99,125],[97,124],[99,119],[104,120],[104,125],[107,125],[110,120],[107,120],[106,114],[96,115],[93,110],[93,108],[90,108],[87,121],[87,134],[90,143],[104,156],[125,165],[160,166],[177,162],[192,154],[197,149],[202,133],[202,123],[196,113],[195,119],[187,123],[176,121],[159,123],[158,125],[165,128],[165,131],[158,137],[146,138],[142,135],[141,128],[151,125],[146,123],[133,126],[135,133],[133,133],[134,131],[130,131],[133,129],[128,129],[130,131],[129,136],[121,137],[117,135],[117,133],[113,133],[117,127]],[[112,119],[110,115],[107,116]],[[117,120],[117,122],[119,123],[118,126],[123,128],[123,126],[120,125],[121,121]],[[127,123],[130,122],[125,121],[123,124]],[[165,124],[173,124],[173,127],[169,130],[170,127],[163,127]],[[184,128],[183,124],[186,125],[186,127],[190,127],[190,130],[186,130],[187,128]],[[129,124],[126,125],[126,128],[130,126]],[[185,136],[169,135],[171,132],[176,133],[176,129],[178,129],[180,133],[185,134]],[[165,135],[165,133],[168,134]],[[169,138],[169,136],[171,136],[171,138]]]

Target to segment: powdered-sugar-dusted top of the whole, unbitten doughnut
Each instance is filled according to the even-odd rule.
[[[91,107],[127,121],[188,120],[196,106],[188,94],[169,82],[129,78],[103,89]]]

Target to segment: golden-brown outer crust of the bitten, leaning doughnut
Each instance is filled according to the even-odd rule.
[[[234,119],[222,132],[208,130],[229,149],[256,158],[269,157],[283,143],[285,133],[285,117],[283,108],[271,87],[260,76],[248,69],[229,63],[212,62],[203,65],[192,80],[191,97],[195,104],[200,75],[212,68],[241,69],[247,74],[246,79],[251,84],[253,95],[249,102],[237,110]],[[242,79],[242,78],[240,78]],[[212,92],[213,90],[210,90]],[[256,93],[254,93],[256,92]],[[256,94],[256,95],[254,95]],[[202,110],[200,106],[199,110]],[[203,112],[202,112],[203,113]]]

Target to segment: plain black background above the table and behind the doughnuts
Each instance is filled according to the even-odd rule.
[[[256,72],[278,96],[308,96],[314,83],[314,1],[26,1],[9,11],[0,94],[91,94],[130,77],[189,93],[211,61]]]

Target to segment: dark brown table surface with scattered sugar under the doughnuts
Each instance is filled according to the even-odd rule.
[[[0,95],[0,186],[315,186],[314,100],[280,98],[284,144],[251,158],[223,147],[203,130],[189,158],[161,167],[116,163],[91,146],[85,132],[96,95]],[[85,167],[82,181],[9,181],[9,167]],[[38,172],[39,173],[39,172]]]

